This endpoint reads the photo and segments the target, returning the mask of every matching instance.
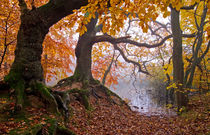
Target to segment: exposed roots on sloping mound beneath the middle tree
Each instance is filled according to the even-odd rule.
[[[72,88],[72,85],[75,83],[82,83],[82,87],[80,88]],[[104,85],[100,84],[97,80],[78,80],[77,76],[71,76],[69,78],[63,79],[59,81],[59,83],[54,87],[66,87],[69,86],[70,90],[65,91],[65,93],[73,94],[78,93],[77,95],[74,95],[79,101],[85,106],[86,109],[90,109],[90,104],[88,102],[88,98],[90,95],[92,95],[96,102],[99,98],[106,98],[110,104],[117,104],[117,105],[123,105],[126,104],[117,94],[113,93],[111,90],[109,90]],[[128,106],[128,105],[127,105]],[[129,106],[128,106],[129,107]]]

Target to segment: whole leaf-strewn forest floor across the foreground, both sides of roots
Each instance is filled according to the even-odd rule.
[[[44,108],[26,107],[11,115],[14,99],[0,94],[0,134],[23,134],[36,124],[59,117]],[[78,135],[207,135],[210,134],[210,93],[191,98],[187,113],[180,116],[145,116],[127,106],[110,104],[105,99],[92,100],[92,110],[79,101],[70,103],[71,115],[66,126]],[[62,123],[61,123],[62,124]],[[47,134],[47,131],[45,131]]]

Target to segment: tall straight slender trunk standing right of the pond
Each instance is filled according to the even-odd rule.
[[[180,28],[179,11],[171,8],[171,26],[173,34],[173,79],[177,84],[175,89],[176,103],[178,110],[183,106],[186,107],[188,103],[187,93],[184,91],[184,63],[182,58],[182,31]]]

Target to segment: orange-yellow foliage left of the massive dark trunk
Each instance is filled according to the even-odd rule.
[[[0,70],[0,79],[3,78],[9,72],[10,66],[14,60],[14,50],[16,45],[16,38],[19,28],[19,8],[17,6],[17,1],[14,0],[1,0],[0,1],[0,56],[2,56],[3,51],[5,49],[4,39],[7,40],[7,43],[12,41],[7,48],[6,55],[4,57],[4,61],[2,63],[2,67]],[[14,5],[14,6],[13,6]],[[7,34],[6,34],[7,27]],[[1,58],[0,58],[1,60]]]

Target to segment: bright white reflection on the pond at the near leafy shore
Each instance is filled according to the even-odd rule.
[[[150,115],[164,115],[174,116],[176,113],[173,110],[167,109],[165,105],[159,105],[151,99],[151,95],[145,90],[138,95],[131,98],[130,106],[133,111],[138,111],[147,116]]]

